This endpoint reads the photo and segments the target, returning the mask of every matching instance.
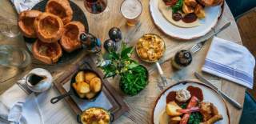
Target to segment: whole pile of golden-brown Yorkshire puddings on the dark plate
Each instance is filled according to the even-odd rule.
[[[45,10],[22,11],[18,26],[27,38],[38,38],[32,46],[34,58],[53,64],[62,57],[62,49],[72,52],[82,46],[79,34],[85,31],[85,26],[71,21],[73,10],[68,0],[49,0]]]

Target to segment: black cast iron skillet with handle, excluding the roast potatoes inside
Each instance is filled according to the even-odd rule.
[[[102,81],[102,78],[94,70],[84,69],[84,70],[78,70],[78,72],[79,71],[92,72],[92,73],[96,74],[98,76],[98,78],[100,78]],[[76,72],[70,80],[70,90],[66,94],[62,94],[62,95],[59,95],[58,97],[51,98],[50,102],[52,104],[57,103],[58,101],[62,100],[62,98],[66,98],[67,96],[71,96],[71,95],[74,95],[75,97],[77,97],[79,99],[85,100],[86,102],[91,102],[91,101],[94,101],[98,97],[99,94],[101,94],[102,89],[94,96],[94,98],[90,98],[90,99],[88,99],[86,97],[80,98],[79,95],[77,94],[76,90],[74,90],[74,87],[72,86],[72,84],[75,82],[75,76],[78,74],[78,72]],[[102,86],[103,86],[103,82],[102,82]]]

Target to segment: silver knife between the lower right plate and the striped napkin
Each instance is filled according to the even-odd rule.
[[[211,86],[212,88],[214,88],[214,90],[217,90],[218,94],[221,94],[223,98],[225,98],[228,102],[230,102],[230,104],[232,104],[234,107],[238,108],[238,110],[242,109],[242,106],[238,102],[236,102],[233,98],[230,98],[229,96],[227,96],[221,90],[218,90],[218,88],[214,86],[212,83],[210,83],[209,81],[207,81],[206,78],[203,78],[197,72],[194,73],[194,76],[198,78],[201,82],[205,82],[208,86]]]

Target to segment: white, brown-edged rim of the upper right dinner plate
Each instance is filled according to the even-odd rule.
[[[176,39],[180,39],[180,40],[185,40],[185,41],[192,40],[192,39],[195,39],[195,38],[200,38],[200,37],[206,35],[207,33],[209,33],[210,30],[212,30],[212,29],[217,25],[218,21],[222,18],[224,6],[225,6],[225,4],[224,4],[225,1],[223,1],[223,2],[222,2],[222,5],[221,5],[221,7],[220,7],[220,8],[221,8],[221,13],[218,15],[218,18],[217,18],[217,20],[214,22],[214,25],[212,25],[210,28],[208,28],[208,30],[206,30],[205,33],[200,34],[200,35],[198,35],[198,36],[191,37],[191,38],[180,38],[180,37],[176,36],[175,34],[170,34],[170,33],[168,33],[165,29],[162,28],[162,26],[159,26],[159,24],[158,24],[157,22],[155,22],[156,17],[154,17],[154,15],[152,14],[152,10],[153,10],[153,8],[154,8],[154,7],[153,7],[153,4],[154,4],[153,2],[154,2],[154,1],[155,1],[155,0],[150,0],[150,4],[149,4],[150,16],[151,16],[151,18],[153,19],[154,25],[157,26],[159,30],[162,30],[162,32],[163,32],[164,34],[167,34],[167,35],[169,35],[169,36],[172,37],[172,38],[176,38]]]

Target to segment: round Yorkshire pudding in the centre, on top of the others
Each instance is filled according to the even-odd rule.
[[[62,19],[50,13],[39,14],[34,20],[34,29],[42,42],[57,42],[62,37],[64,25]]]

